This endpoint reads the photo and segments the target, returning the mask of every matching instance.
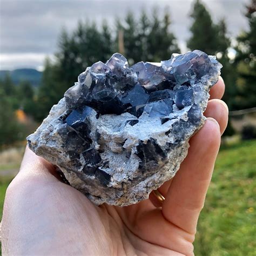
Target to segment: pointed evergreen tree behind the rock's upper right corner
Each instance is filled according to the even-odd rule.
[[[191,50],[200,49],[208,54],[217,55],[219,62],[223,64],[221,76],[226,84],[224,100],[228,107],[233,109],[234,96],[237,94],[237,87],[235,86],[237,72],[234,64],[228,58],[231,41],[227,36],[225,19],[221,19],[219,23],[214,24],[210,12],[199,0],[194,2],[191,17],[193,19],[190,28],[192,35],[188,39],[187,46]]]

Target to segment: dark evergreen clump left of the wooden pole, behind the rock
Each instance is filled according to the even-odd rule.
[[[106,22],[99,30],[95,22],[80,21],[70,36],[63,30],[56,55],[56,79],[61,84],[59,93],[72,86],[87,66],[99,60],[105,62],[112,55],[112,49],[111,33]]]

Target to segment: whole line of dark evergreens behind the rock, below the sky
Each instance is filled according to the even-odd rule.
[[[217,55],[223,64],[224,100],[231,110],[254,107],[256,103],[256,0],[251,0],[243,11],[249,29],[231,42],[225,19],[214,23],[205,5],[200,0],[194,1],[191,37],[187,41],[188,49]],[[230,49],[235,52],[233,58]],[[105,62],[118,51],[130,64],[141,60],[159,62],[169,59],[173,52],[180,52],[177,38],[171,31],[170,10],[165,8],[159,12],[153,9],[151,14],[142,11],[137,18],[127,12],[124,20],[116,19],[114,29],[106,21],[101,26],[79,21],[71,33],[62,31],[55,61],[45,60],[38,89],[33,89],[27,82],[15,87],[6,77],[0,81],[0,96],[4,96],[0,100],[10,112],[21,107],[35,120],[42,121],[51,106],[77,81],[79,73],[98,60]]]

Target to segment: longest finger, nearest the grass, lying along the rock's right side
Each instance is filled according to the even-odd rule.
[[[219,124],[207,118],[203,128],[190,140],[187,157],[166,194],[164,217],[188,233],[196,233],[219,146]]]

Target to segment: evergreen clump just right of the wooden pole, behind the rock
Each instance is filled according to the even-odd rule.
[[[130,64],[140,61],[160,62],[169,59],[173,52],[180,52],[176,37],[170,30],[171,17],[166,9],[163,18],[159,18],[159,11],[153,9],[149,17],[142,11],[140,18],[134,18],[128,12],[125,21],[117,21],[116,33],[124,33],[125,56]],[[118,49],[116,49],[118,51]]]

